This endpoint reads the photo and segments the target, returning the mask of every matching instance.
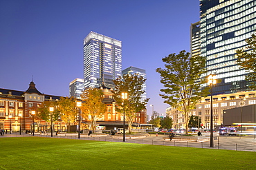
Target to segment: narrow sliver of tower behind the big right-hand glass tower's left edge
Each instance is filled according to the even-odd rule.
[[[200,22],[191,23],[190,25],[190,53],[191,56],[201,55],[200,45]]]

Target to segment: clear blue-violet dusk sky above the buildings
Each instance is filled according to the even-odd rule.
[[[83,78],[83,39],[90,31],[122,41],[122,70],[147,72],[147,114],[165,115],[162,58],[190,52],[190,24],[199,0],[0,1],[0,88],[26,91],[33,75],[39,92],[68,96]]]

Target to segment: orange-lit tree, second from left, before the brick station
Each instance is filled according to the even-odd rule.
[[[75,122],[77,116],[75,98],[60,97],[57,105],[57,110],[60,111],[61,118],[68,125],[68,132],[70,132],[71,123]]]

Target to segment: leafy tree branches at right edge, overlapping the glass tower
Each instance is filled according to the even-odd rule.
[[[256,34],[252,34],[250,39],[246,39],[248,44],[244,49],[237,50],[237,65],[244,68],[248,74],[246,81],[249,82],[250,89],[256,89]]]

